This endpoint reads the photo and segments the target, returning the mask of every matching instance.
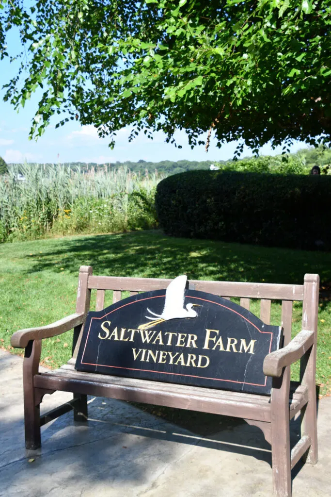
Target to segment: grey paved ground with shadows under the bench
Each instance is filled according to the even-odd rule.
[[[57,392],[43,405],[69,398]],[[200,436],[191,416],[180,426],[125,402],[89,398],[88,423],[68,413],[42,428],[38,454],[28,452],[22,359],[0,351],[0,496],[271,497],[270,446],[260,430],[215,419]],[[299,468],[293,497],[331,496],[331,398],[320,402],[318,423],[319,463]]]

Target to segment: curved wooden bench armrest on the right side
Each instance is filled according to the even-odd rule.
[[[267,376],[280,376],[283,368],[304,355],[314,343],[314,331],[302,330],[285,347],[265,356],[263,372]]]

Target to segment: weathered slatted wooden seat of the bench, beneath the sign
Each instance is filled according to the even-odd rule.
[[[76,371],[72,362],[69,361],[59,369],[34,376],[34,387],[227,416],[238,416],[240,406],[240,417],[271,421],[270,396],[85,373]],[[308,401],[305,387],[296,382],[292,382],[291,386],[290,419]]]

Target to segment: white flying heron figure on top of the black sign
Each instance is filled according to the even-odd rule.
[[[177,278],[175,278],[168,285],[168,288],[166,289],[165,304],[162,314],[155,314],[147,307],[147,311],[152,316],[145,316],[145,318],[150,320],[150,322],[138,326],[138,330],[146,330],[151,326],[163,323],[163,321],[169,321],[170,319],[197,317],[197,312],[194,311],[192,307],[201,307],[199,304],[187,304],[186,309],[184,307],[186,281],[186,275],[177,276]]]

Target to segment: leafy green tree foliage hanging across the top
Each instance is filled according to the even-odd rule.
[[[30,5],[30,4],[29,4]],[[6,86],[15,107],[38,88],[30,135],[58,113],[100,136],[132,126],[193,146],[241,140],[330,143],[331,0],[2,0],[0,51],[25,49]],[[65,117],[63,115],[65,112]],[[242,145],[243,146],[243,145]],[[240,152],[240,146],[238,153]]]

